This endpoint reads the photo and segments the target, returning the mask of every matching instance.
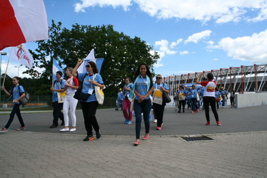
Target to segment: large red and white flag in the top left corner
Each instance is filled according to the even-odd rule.
[[[0,50],[48,39],[43,0],[1,0]]]

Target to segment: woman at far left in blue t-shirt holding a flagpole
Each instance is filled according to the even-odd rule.
[[[25,97],[25,92],[24,92],[23,86],[21,86],[19,84],[20,82],[19,82],[18,77],[14,77],[12,79],[12,82],[13,82],[14,86],[9,92],[5,89],[4,86],[1,87],[1,89],[5,92],[6,95],[8,95],[8,96],[12,95],[13,96],[13,109],[10,113],[10,117],[9,117],[7,124],[5,125],[5,127],[3,129],[0,130],[0,132],[5,132],[8,130],[10,124],[12,123],[12,121],[14,119],[15,113],[17,114],[17,118],[18,118],[20,126],[21,126],[17,130],[25,130],[25,125],[24,125],[24,122],[23,122],[23,119],[21,117],[20,110],[19,110],[19,105],[20,105],[19,100],[22,97]]]

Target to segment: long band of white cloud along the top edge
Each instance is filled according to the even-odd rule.
[[[94,6],[123,7],[129,10],[137,3],[140,10],[158,19],[179,18],[200,20],[203,23],[214,19],[216,23],[262,21],[267,19],[266,0],[79,0],[75,12],[85,12]],[[246,16],[253,12],[255,17]]]

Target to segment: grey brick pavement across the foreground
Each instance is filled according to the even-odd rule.
[[[209,134],[214,140],[10,130],[0,134],[0,178],[265,178],[267,131]]]

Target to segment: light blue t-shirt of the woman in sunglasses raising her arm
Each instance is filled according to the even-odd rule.
[[[93,74],[90,76],[87,74],[83,80],[84,75],[85,75],[85,73],[78,73],[77,74],[77,79],[80,81],[83,81],[83,90],[82,90],[83,93],[88,93],[89,89],[92,89],[93,91],[95,90],[95,85],[90,83],[91,79],[93,79],[95,75],[96,75],[96,77],[95,77],[94,81],[96,81],[97,83],[99,83],[101,85],[104,84],[100,74]],[[83,101],[83,100],[81,100],[81,101]],[[90,97],[88,97],[88,99],[86,101],[83,101],[83,102],[91,102],[91,101],[97,101],[95,93],[93,93]]]

